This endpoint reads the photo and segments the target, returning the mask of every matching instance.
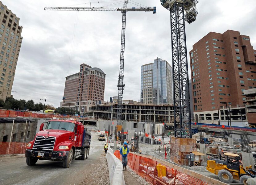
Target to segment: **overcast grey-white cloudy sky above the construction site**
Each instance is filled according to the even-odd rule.
[[[121,45],[121,12],[45,11],[43,7],[88,7],[94,0],[1,0],[19,18],[23,42],[12,92],[17,99],[33,99],[60,106],[65,76],[79,72],[82,63],[106,73],[105,101],[118,94]],[[122,0],[99,0],[93,7],[122,7]],[[133,0],[156,6],[156,14],[128,12],[126,20],[124,99],[140,99],[140,66],[156,56],[171,64],[169,12],[160,0]],[[255,0],[200,0],[197,21],[186,25],[188,51],[210,31],[230,30],[249,35],[256,47]],[[248,6],[250,5],[250,6]],[[129,7],[136,6],[129,3]],[[137,5],[136,7],[139,7]]]

